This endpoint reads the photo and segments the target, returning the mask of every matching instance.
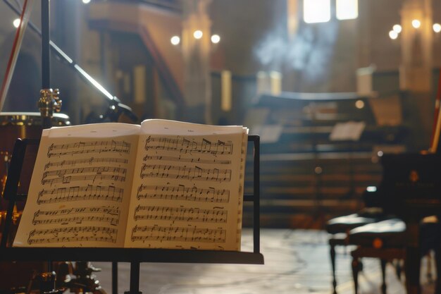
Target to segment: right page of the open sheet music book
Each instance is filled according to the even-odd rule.
[[[246,130],[149,120],[141,133],[125,247],[240,250]]]

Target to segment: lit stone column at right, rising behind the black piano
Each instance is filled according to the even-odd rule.
[[[432,85],[432,0],[405,0],[401,11],[402,64],[399,87],[405,90],[403,109],[410,129],[409,149],[430,147],[434,102]],[[419,20],[420,27],[412,22]]]

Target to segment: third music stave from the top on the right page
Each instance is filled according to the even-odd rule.
[[[140,178],[178,178],[183,180],[206,180],[230,182],[230,169],[202,169],[199,166],[172,166],[166,164],[142,164]]]

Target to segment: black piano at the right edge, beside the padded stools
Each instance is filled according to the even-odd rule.
[[[406,288],[408,294],[419,294],[420,221],[426,216],[441,219],[441,154],[385,154],[381,162],[383,180],[378,192],[385,210],[406,222]],[[437,271],[441,271],[438,259]],[[439,284],[436,293],[441,293]]]

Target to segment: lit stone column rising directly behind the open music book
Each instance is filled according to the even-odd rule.
[[[182,22],[182,55],[187,113],[185,118],[196,123],[212,123],[210,37],[208,8],[211,0],[184,0]],[[198,39],[197,30],[202,32]]]

